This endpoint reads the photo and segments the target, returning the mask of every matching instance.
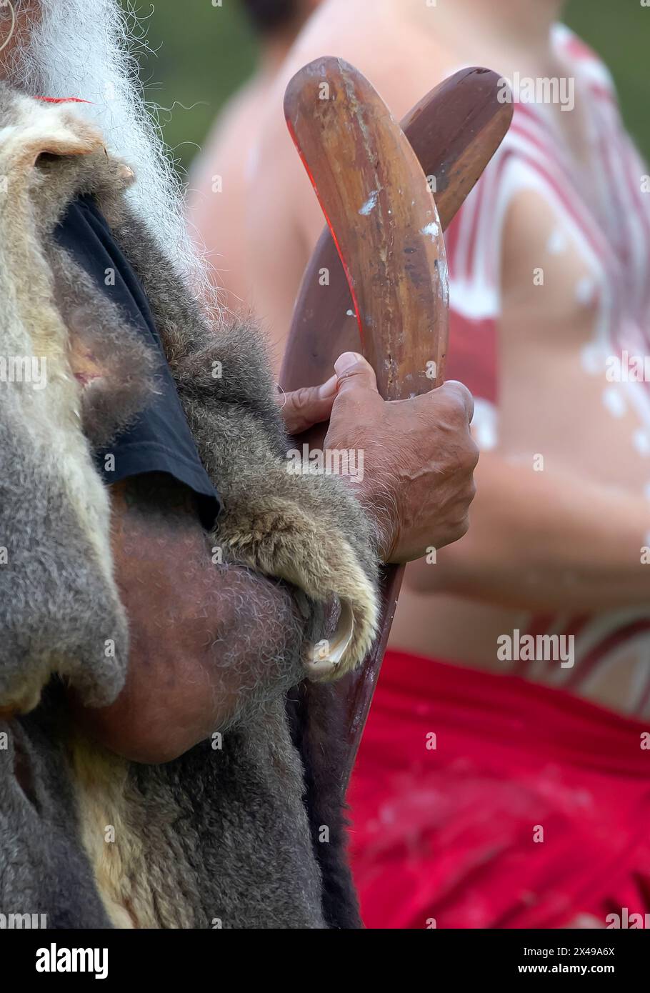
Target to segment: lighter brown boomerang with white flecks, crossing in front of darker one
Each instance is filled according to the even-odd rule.
[[[442,372],[447,350],[449,288],[443,229],[415,152],[368,80],[339,59],[294,76],[285,115],[379,392],[397,400],[431,389],[430,363]]]

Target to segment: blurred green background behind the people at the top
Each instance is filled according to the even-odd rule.
[[[255,39],[238,0],[221,0],[220,7],[212,0],[124,2],[145,18],[156,55],[143,60],[143,82],[148,98],[168,108],[161,123],[185,169],[223,102],[253,69]],[[627,126],[650,160],[650,8],[641,0],[569,0],[565,21],[613,72]]]

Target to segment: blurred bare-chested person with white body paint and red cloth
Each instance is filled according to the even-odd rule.
[[[468,534],[407,570],[353,776],[369,926],[605,926],[650,905],[650,386],[624,361],[649,353],[650,178],[563,7],[327,0],[255,135],[237,222],[281,355],[324,227],[281,109],[294,72],[340,56],[398,120],[463,66],[519,80],[447,234],[447,374],[483,454]],[[528,102],[545,78],[557,102]]]

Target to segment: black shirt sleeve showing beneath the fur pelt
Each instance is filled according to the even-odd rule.
[[[91,197],[80,197],[70,205],[55,237],[160,357],[156,396],[133,426],[111,444],[113,471],[105,468],[104,456],[109,453],[96,453],[98,471],[106,483],[118,483],[141,473],[173,476],[194,490],[201,522],[211,528],[221,507],[220,497],[198,458],[149,303],[135,272]],[[114,273],[114,285],[105,285],[106,270]]]

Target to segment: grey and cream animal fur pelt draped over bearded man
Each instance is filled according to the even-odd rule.
[[[319,764],[319,736],[336,734],[331,687],[305,677],[349,671],[374,637],[369,524],[340,481],[287,472],[259,337],[210,326],[127,207],[133,173],[97,131],[0,84],[0,177],[0,354],[47,357],[47,388],[0,383],[0,714],[12,715],[0,722],[0,913],[47,914],[51,927],[356,926],[342,787]],[[206,741],[163,766],[91,744],[65,709],[64,683],[101,705],[124,682],[126,615],[92,449],[142,409],[153,367],[53,239],[88,194],[144,286],[223,497],[211,544],[289,584],[306,618],[277,619],[289,637],[267,661],[272,691],[251,686],[221,748]],[[84,385],[73,369],[88,350],[103,374]],[[324,640],[332,600],[341,620]]]

